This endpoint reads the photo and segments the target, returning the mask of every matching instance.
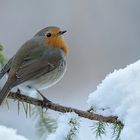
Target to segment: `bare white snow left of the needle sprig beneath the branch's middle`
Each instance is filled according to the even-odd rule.
[[[70,125],[71,119],[76,119],[78,121],[79,117],[75,113],[65,113],[60,115],[58,118],[58,128],[55,133],[52,133],[48,136],[47,140],[66,140],[66,137],[70,133],[72,129]],[[78,136],[76,136],[73,140],[77,140]]]

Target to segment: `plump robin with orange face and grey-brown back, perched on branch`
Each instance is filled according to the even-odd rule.
[[[0,91],[0,105],[17,86],[37,90],[49,88],[62,79],[67,67],[69,47],[57,26],[48,26],[25,42],[0,71],[8,78]]]

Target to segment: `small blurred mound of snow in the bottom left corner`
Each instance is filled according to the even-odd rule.
[[[17,131],[12,128],[7,128],[0,125],[0,140],[28,140],[27,138],[17,134]]]

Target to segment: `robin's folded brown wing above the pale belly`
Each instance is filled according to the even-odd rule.
[[[62,61],[62,59],[59,59],[54,62],[48,62],[46,61],[45,57],[43,57],[24,62],[24,64],[21,65],[19,70],[16,72],[16,85],[49,73],[50,71],[56,69],[62,63]]]

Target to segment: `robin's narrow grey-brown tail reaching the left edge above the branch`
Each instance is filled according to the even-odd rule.
[[[11,88],[9,82],[6,82],[2,90],[0,91],[0,105],[4,102],[4,100],[8,96],[10,89]]]

